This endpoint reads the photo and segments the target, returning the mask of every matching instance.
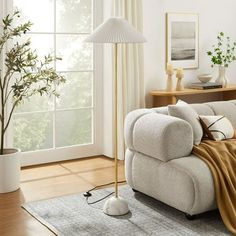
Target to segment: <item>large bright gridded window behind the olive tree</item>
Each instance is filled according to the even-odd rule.
[[[100,69],[94,55],[101,49],[83,42],[101,15],[94,10],[101,9],[99,1],[94,2],[96,7],[92,0],[13,0],[11,8],[20,10],[22,21],[34,24],[25,38],[31,38],[40,57],[52,52],[62,57],[53,66],[66,78],[57,88],[59,98],[34,96],[14,113],[8,140],[23,152],[30,151],[25,153],[27,160],[29,155],[41,157],[26,164],[45,162],[49,156],[53,158],[49,161],[56,161],[100,154]],[[58,149],[63,149],[59,156]]]

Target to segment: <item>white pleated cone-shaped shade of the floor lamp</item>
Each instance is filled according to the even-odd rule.
[[[128,21],[121,17],[112,17],[98,26],[85,39],[93,43],[144,43],[146,39]]]

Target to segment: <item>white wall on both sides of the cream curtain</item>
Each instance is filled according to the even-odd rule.
[[[103,0],[104,19],[111,14],[112,0]],[[149,91],[165,88],[166,12],[199,13],[199,69],[185,72],[184,83],[196,80],[197,74],[209,72],[217,75],[210,67],[206,51],[215,42],[219,31],[236,39],[236,1],[235,0],[143,0],[143,28],[147,43],[144,45],[144,76],[146,86],[146,105],[152,105]],[[112,63],[109,45],[104,46],[103,68],[103,154],[112,156]],[[236,84],[236,62],[228,69],[231,83]]]

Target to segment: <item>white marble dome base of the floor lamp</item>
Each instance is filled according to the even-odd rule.
[[[110,216],[125,215],[129,212],[128,203],[121,197],[111,197],[105,202],[103,212]]]

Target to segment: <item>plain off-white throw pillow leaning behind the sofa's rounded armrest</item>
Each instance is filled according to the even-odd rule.
[[[168,113],[171,116],[187,121],[193,130],[193,143],[198,145],[201,142],[203,136],[202,126],[197,112],[188,103],[179,100],[176,105],[168,106]]]

